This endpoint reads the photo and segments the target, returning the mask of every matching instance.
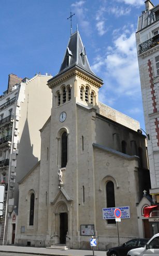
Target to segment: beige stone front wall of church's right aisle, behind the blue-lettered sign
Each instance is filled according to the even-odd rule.
[[[115,207],[130,207],[131,218],[121,219],[119,222],[120,244],[138,237],[136,211],[136,204],[139,203],[138,161],[127,161],[113,153],[95,148],[94,166],[98,245],[100,249],[108,249],[118,245],[117,224],[108,224],[107,220],[103,219],[102,209],[107,207],[106,184],[108,181],[114,183]]]

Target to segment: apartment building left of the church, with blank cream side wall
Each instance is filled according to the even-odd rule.
[[[21,79],[10,74],[8,89],[0,96],[0,181],[5,184],[0,244],[14,244],[18,207],[18,182],[40,159],[40,132],[51,111],[51,76]],[[7,210],[6,210],[7,209]]]

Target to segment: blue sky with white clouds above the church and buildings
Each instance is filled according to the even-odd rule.
[[[1,0],[0,94],[11,73],[32,78],[59,72],[71,10],[73,32],[78,23],[91,68],[104,80],[99,100],[140,121],[144,129],[135,43],[144,9],[144,0]]]

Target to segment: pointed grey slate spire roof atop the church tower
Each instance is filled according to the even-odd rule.
[[[75,65],[95,75],[91,70],[89,61],[86,56],[85,48],[83,46],[83,43],[78,31],[72,34],[69,38],[69,42],[66,48],[66,53],[65,53],[59,73],[62,73],[65,70]]]

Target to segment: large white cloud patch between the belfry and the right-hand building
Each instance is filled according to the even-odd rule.
[[[96,74],[104,74],[107,89],[117,97],[134,97],[140,92],[135,31],[116,31],[113,46],[107,48],[105,56],[97,56],[91,67]],[[112,102],[112,101],[111,101]]]

